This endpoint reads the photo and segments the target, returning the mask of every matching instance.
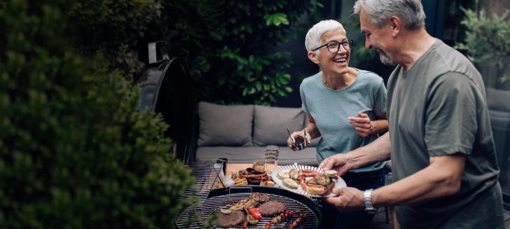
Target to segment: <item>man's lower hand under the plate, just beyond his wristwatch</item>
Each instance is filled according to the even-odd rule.
[[[326,198],[326,202],[336,207],[338,211],[359,211],[365,209],[364,191],[345,187],[333,189],[333,193],[337,196]]]

